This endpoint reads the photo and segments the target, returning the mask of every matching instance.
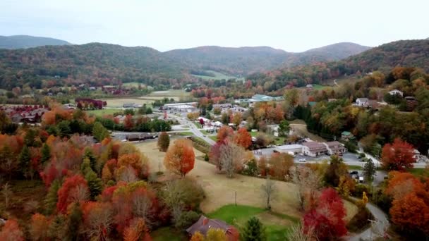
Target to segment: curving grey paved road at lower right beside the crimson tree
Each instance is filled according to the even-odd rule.
[[[381,209],[370,203],[366,204],[366,207],[374,216],[373,225],[371,225],[370,228],[364,230],[362,233],[350,237],[350,241],[374,240],[375,237],[380,237],[384,235],[385,230],[389,228],[389,220],[387,219],[387,215],[383,211],[381,211]]]

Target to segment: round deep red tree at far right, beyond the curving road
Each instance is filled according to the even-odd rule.
[[[381,163],[388,170],[403,171],[413,167],[416,162],[413,146],[397,138],[392,144],[385,144],[382,149]]]

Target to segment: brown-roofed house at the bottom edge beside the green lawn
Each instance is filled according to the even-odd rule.
[[[200,219],[191,227],[186,229],[186,232],[188,232],[189,236],[194,235],[195,233],[200,233],[202,235],[207,235],[207,232],[210,228],[217,228],[224,230],[225,235],[227,237],[227,240],[238,240],[239,233],[234,226],[229,225],[228,223],[225,223],[224,221],[220,221],[217,219],[211,219],[206,218],[204,215],[200,216]]]

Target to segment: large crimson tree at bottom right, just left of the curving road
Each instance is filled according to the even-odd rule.
[[[335,240],[347,233],[345,216],[341,197],[327,188],[320,194],[318,205],[304,215],[304,227],[314,228],[318,240]]]

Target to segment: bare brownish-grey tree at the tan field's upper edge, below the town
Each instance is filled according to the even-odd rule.
[[[241,171],[245,158],[244,148],[234,142],[226,142],[220,148],[220,162],[228,178]]]

